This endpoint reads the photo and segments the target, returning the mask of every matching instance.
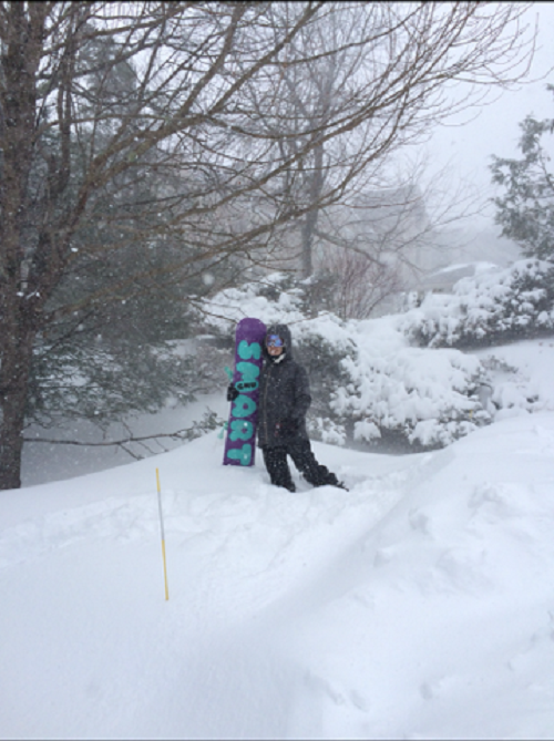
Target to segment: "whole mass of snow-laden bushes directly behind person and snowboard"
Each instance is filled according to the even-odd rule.
[[[245,316],[290,326],[295,354],[309,373],[310,434],[335,444],[447,445],[492,415],[480,399],[486,371],[459,350],[410,348],[393,317],[348,322],[307,316],[304,286],[280,276],[223,291],[204,306],[206,327],[233,336]],[[277,289],[275,289],[277,286]]]

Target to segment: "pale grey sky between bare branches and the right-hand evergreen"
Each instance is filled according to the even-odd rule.
[[[538,17],[537,49],[529,75],[530,80],[542,78],[554,66],[554,2],[536,2],[529,11],[530,22]],[[430,158],[430,173],[449,165],[449,177],[462,181],[479,189],[483,203],[494,195],[489,165],[491,155],[519,156],[519,123],[533,113],[538,119],[554,117],[554,95],[546,83],[554,83],[554,73],[536,82],[526,82],[517,91],[496,93],[499,99],[479,111],[456,116],[464,125],[439,126],[432,134],[425,151]],[[480,226],[492,224],[494,208],[488,208]]]

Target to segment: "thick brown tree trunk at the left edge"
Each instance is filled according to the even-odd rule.
[[[0,490],[21,486],[27,394],[37,332],[37,300],[23,296],[25,205],[34,146],[35,75],[45,6],[2,8],[0,90]],[[10,33],[7,33],[9,28]],[[42,299],[40,299],[42,301]]]

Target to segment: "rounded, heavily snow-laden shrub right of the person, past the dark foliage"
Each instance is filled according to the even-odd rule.
[[[492,421],[479,394],[486,372],[475,357],[400,341],[382,350],[361,336],[357,354],[343,360],[350,382],[331,401],[338,418],[353,423],[356,441],[440,447]]]

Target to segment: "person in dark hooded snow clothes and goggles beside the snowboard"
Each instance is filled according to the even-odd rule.
[[[308,374],[293,359],[293,338],[286,325],[269,327],[263,348],[264,368],[259,380],[258,445],[264,454],[271,484],[295,492],[287,456],[312,486],[346,486],[317,462],[306,430],[311,403]],[[227,401],[238,391],[233,384]]]

